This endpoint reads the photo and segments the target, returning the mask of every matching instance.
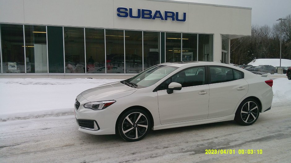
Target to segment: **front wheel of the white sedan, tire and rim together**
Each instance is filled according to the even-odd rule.
[[[124,140],[139,141],[150,131],[150,117],[141,109],[132,109],[120,117],[116,127]]]

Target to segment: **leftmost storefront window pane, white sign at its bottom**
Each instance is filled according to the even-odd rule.
[[[0,26],[3,73],[25,73],[23,25]]]

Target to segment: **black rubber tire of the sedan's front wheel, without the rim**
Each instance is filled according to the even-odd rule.
[[[137,138],[137,139],[130,139],[130,138],[128,138],[127,136],[124,135],[123,130],[122,130],[122,125],[123,125],[123,121],[124,121],[124,119],[125,119],[128,115],[130,115],[131,113],[134,113],[134,112],[142,113],[143,115],[145,115],[145,118],[147,119],[148,127],[147,127],[145,133],[144,133],[141,137],[139,137],[139,138]],[[133,142],[133,141],[139,141],[139,140],[143,139],[143,138],[146,136],[146,134],[150,131],[150,128],[151,128],[151,121],[150,121],[150,117],[149,117],[149,115],[148,115],[145,111],[143,111],[143,110],[141,110],[141,109],[132,109],[132,110],[129,110],[129,111],[125,112],[125,113],[120,117],[120,119],[118,120],[118,123],[117,123],[117,129],[116,129],[116,130],[117,130],[119,136],[121,136],[122,139],[124,139],[124,140],[126,140],[126,141],[131,141],[131,142]]]

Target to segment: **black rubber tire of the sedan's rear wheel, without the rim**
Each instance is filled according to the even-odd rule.
[[[251,123],[245,123],[245,122],[243,121],[243,119],[241,118],[241,110],[242,110],[242,107],[243,107],[243,106],[245,105],[245,103],[247,103],[247,102],[254,102],[254,103],[258,106],[258,116],[257,116],[257,118],[256,118],[253,122],[251,122]],[[257,100],[255,100],[255,99],[253,99],[253,98],[245,99],[244,101],[241,102],[241,104],[240,104],[239,107],[237,108],[237,111],[236,111],[236,114],[235,114],[235,118],[234,118],[234,120],[235,120],[237,123],[239,123],[239,124],[241,124],[241,125],[244,125],[244,126],[251,125],[251,124],[253,124],[253,123],[255,123],[255,122],[257,121],[257,119],[258,119],[258,117],[259,117],[259,115],[260,115],[260,110],[261,110],[261,108],[260,108],[260,105],[258,104]]]

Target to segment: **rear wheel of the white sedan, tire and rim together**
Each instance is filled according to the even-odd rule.
[[[260,114],[258,102],[252,98],[245,99],[237,108],[234,120],[244,126],[255,123]]]

